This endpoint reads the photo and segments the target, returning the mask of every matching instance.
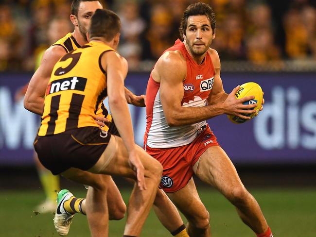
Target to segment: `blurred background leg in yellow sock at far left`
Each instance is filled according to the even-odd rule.
[[[44,189],[46,199],[35,207],[35,211],[40,213],[54,212],[56,210],[56,198],[59,187],[59,176],[53,175],[52,172],[46,169],[38,160],[36,152],[34,152],[35,167],[38,173],[39,180]]]

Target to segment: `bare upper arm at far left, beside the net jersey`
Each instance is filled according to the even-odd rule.
[[[58,45],[52,46],[45,51],[41,63],[27,88],[24,97],[24,108],[38,115],[43,114],[45,91],[51,78],[53,67],[65,54],[65,49]]]

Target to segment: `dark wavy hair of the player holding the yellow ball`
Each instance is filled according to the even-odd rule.
[[[216,28],[216,20],[215,20],[215,13],[211,6],[204,2],[197,2],[195,4],[191,4],[185,9],[179,27],[180,37],[183,39],[183,34],[185,35],[185,31],[187,30],[188,26],[188,18],[190,16],[206,16],[208,17],[213,34]]]

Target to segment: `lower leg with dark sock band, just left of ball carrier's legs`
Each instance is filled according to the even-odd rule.
[[[176,237],[188,237],[185,225],[174,203],[162,189],[158,189],[153,205],[156,216],[161,224]]]

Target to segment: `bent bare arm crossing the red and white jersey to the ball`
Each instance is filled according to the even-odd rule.
[[[242,103],[253,97],[245,97],[237,101],[234,96],[238,90],[237,87],[228,95],[225,102],[204,107],[182,107],[181,101],[184,95],[182,82],[186,77],[186,62],[181,57],[175,51],[168,52],[156,64],[160,77],[160,100],[169,126],[193,124],[221,114],[229,114],[232,111],[242,118],[249,118],[243,116],[242,113],[245,113],[246,109],[252,108],[253,105],[243,105]],[[249,110],[247,112],[249,113]]]

